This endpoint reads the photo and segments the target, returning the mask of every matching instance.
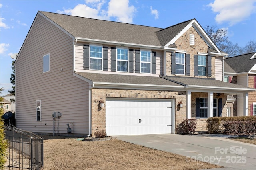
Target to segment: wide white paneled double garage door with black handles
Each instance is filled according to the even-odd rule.
[[[106,98],[107,135],[172,133],[172,102]]]

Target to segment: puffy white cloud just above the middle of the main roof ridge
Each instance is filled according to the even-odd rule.
[[[108,16],[116,17],[116,21],[132,23],[136,9],[129,6],[129,0],[110,0],[108,3]]]

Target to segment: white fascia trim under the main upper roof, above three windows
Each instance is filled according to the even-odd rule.
[[[137,48],[139,47],[139,48],[145,48],[145,49],[162,50],[162,46],[157,46],[157,45],[124,43],[124,42],[118,42],[118,41],[106,41],[101,39],[90,39],[90,38],[81,38],[81,37],[76,37],[76,39],[78,39],[78,41],[85,41],[89,43],[102,43],[102,44],[116,45],[116,46],[137,47]]]

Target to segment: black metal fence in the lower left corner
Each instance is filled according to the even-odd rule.
[[[6,150],[6,170],[39,170],[44,166],[44,139],[32,132],[5,126],[8,149]]]

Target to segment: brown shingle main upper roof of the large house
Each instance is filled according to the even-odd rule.
[[[172,40],[190,21],[166,29],[42,12],[74,37],[162,46]],[[175,45],[173,45],[176,47]]]

